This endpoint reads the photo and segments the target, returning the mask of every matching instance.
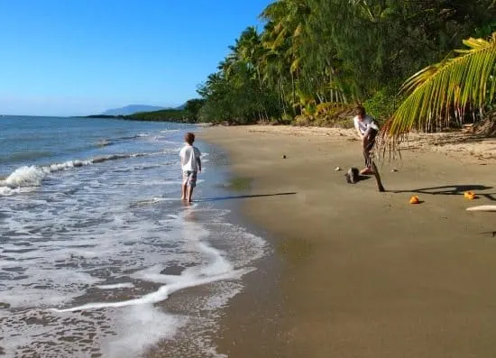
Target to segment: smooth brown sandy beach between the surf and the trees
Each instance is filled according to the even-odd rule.
[[[495,140],[421,136],[400,161],[380,164],[379,193],[373,177],[344,179],[363,167],[350,130],[215,126],[200,138],[250,182],[243,212],[273,247],[226,309],[220,353],[496,354],[496,214],[465,210],[496,204]]]

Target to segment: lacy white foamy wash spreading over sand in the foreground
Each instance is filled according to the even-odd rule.
[[[174,204],[163,201],[157,205]],[[87,226],[77,234],[76,241],[63,233],[77,225],[69,217],[78,215],[77,210],[62,219],[65,225],[64,221],[59,224],[59,234],[52,233],[50,241],[41,235],[38,241],[30,243],[28,252],[12,243],[5,245],[2,255],[8,260],[3,260],[0,267],[23,268],[10,271],[12,280],[5,281],[5,292],[9,294],[0,294],[0,301],[15,310],[3,321],[8,338],[8,344],[4,344],[7,357],[14,356],[19,346],[27,347],[27,355],[50,351],[59,356],[70,352],[73,357],[84,357],[85,347],[92,347],[107,357],[135,357],[174,337],[191,341],[193,345],[188,345],[188,350],[200,349],[206,356],[221,356],[215,353],[215,345],[206,335],[207,326],[215,325],[216,310],[242,289],[240,279],[253,271],[250,263],[262,257],[265,242],[226,223],[226,210],[196,204],[179,209],[177,214],[170,212],[154,224],[136,221],[133,215],[124,213],[125,207],[122,210],[122,215],[114,215],[107,223]],[[99,213],[96,210],[93,215]],[[47,214],[40,229],[51,225]],[[35,223],[33,219],[29,222]],[[119,232],[112,229],[115,225],[121,227]],[[22,225],[16,227],[11,222],[10,226],[19,233],[23,231]],[[222,249],[217,247],[219,243]],[[119,262],[118,266],[115,262]],[[167,273],[173,266],[182,270]],[[182,315],[161,308],[171,295],[206,285],[210,292],[206,297],[179,301]],[[130,296],[133,298],[120,299]],[[81,311],[85,312],[83,316]],[[196,317],[200,311],[204,314]],[[28,317],[51,322],[51,326],[26,326]],[[58,332],[62,330],[73,344],[61,344]],[[92,337],[89,340],[85,338],[88,334]],[[180,349],[182,352],[186,348]]]

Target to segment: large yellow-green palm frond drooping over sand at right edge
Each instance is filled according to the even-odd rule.
[[[461,121],[467,111],[483,113],[496,93],[496,32],[489,40],[464,40],[458,56],[428,66],[401,87],[409,96],[382,128],[384,143],[396,147],[414,129],[433,130]]]

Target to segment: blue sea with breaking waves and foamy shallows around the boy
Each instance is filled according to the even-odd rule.
[[[191,205],[186,132],[204,166]],[[0,148],[0,355],[224,356],[220,312],[269,248],[232,220],[201,127],[1,116]]]

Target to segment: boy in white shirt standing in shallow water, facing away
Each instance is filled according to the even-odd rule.
[[[194,133],[186,133],[184,146],[179,151],[182,169],[181,200],[191,202],[193,188],[197,186],[197,172],[201,172],[200,151],[193,145]]]

